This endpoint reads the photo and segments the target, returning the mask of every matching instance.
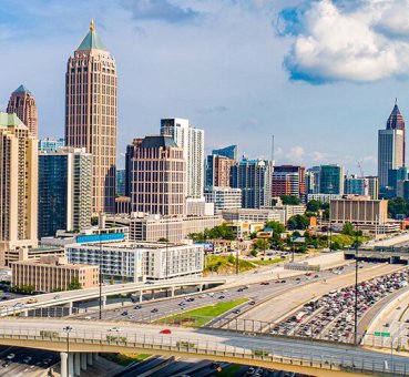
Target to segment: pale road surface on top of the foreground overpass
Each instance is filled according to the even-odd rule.
[[[317,343],[303,339],[295,342],[290,338],[277,338],[274,336],[253,337],[221,330],[174,327],[171,327],[171,335],[161,335],[162,326],[121,324],[120,328],[114,329],[112,323],[86,323],[68,318],[63,320],[49,319],[47,324],[41,319],[4,319],[0,322],[0,343],[13,342],[8,340],[9,334],[14,334],[13,338],[16,336],[22,336],[24,338],[29,336],[32,338],[35,334],[39,336],[41,330],[48,330],[54,333],[55,336],[59,334],[62,339],[58,340],[55,338],[52,343],[44,339],[44,347],[61,349],[61,347],[65,347],[62,327],[67,325],[73,328],[70,334],[70,349],[72,350],[75,350],[78,342],[81,349],[84,349],[88,344],[90,350],[93,347],[96,347],[94,349],[100,349],[99,342],[106,344],[106,336],[113,336],[114,334],[114,336],[123,338],[126,342],[114,343],[114,348],[112,349],[116,349],[117,351],[134,349],[132,348],[134,347],[133,344],[140,344],[141,346],[146,345],[146,353],[155,353],[155,349],[168,349],[173,347],[172,349],[175,350],[172,354],[177,356],[177,349],[180,349],[181,344],[184,344],[188,345],[184,346],[187,347],[184,348],[184,353],[191,348],[194,354],[201,355],[200,358],[213,358],[215,357],[215,353],[217,355],[239,355],[237,363],[247,361],[242,355],[248,355],[250,357],[255,350],[274,355],[277,360],[288,358],[305,359],[314,365],[327,366],[327,368],[331,365],[342,365],[345,367],[352,367],[355,365],[356,367],[364,366],[367,369],[376,367],[376,369],[382,370],[390,361],[389,355],[362,348],[356,349],[354,347],[340,346],[335,343]],[[38,339],[37,342],[41,343],[41,336]],[[221,359],[223,356],[217,356],[217,358]],[[256,361],[257,358],[254,358],[254,363]],[[400,371],[403,371],[403,368],[409,370],[409,358],[397,355],[393,358],[393,366]],[[329,371],[327,370],[327,373]],[[320,375],[323,376],[323,374]]]

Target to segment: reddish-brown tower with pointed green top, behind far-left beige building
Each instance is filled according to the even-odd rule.
[[[39,137],[35,99],[24,85],[20,85],[11,93],[7,112],[9,114],[16,113],[29,128],[31,135],[35,139]]]

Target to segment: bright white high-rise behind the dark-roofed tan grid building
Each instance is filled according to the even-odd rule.
[[[187,119],[162,119],[161,134],[171,136],[183,149],[186,161],[186,196],[203,197],[204,131],[190,125]]]

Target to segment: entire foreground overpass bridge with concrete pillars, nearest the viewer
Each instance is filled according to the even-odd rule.
[[[409,375],[408,357],[329,342],[208,328],[172,328],[172,334],[162,335],[163,327],[154,325],[121,324],[119,328],[112,323],[75,319],[50,319],[47,325],[37,318],[6,319],[0,328],[1,345],[60,351],[62,377],[80,375],[96,353],[194,357],[314,376]]]

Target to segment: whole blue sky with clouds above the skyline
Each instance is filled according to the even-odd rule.
[[[23,83],[40,136],[63,136],[67,60],[90,19],[119,73],[119,152],[161,118],[206,151],[376,173],[395,98],[409,118],[407,0],[1,0],[0,109]],[[120,165],[123,159],[120,157]]]

